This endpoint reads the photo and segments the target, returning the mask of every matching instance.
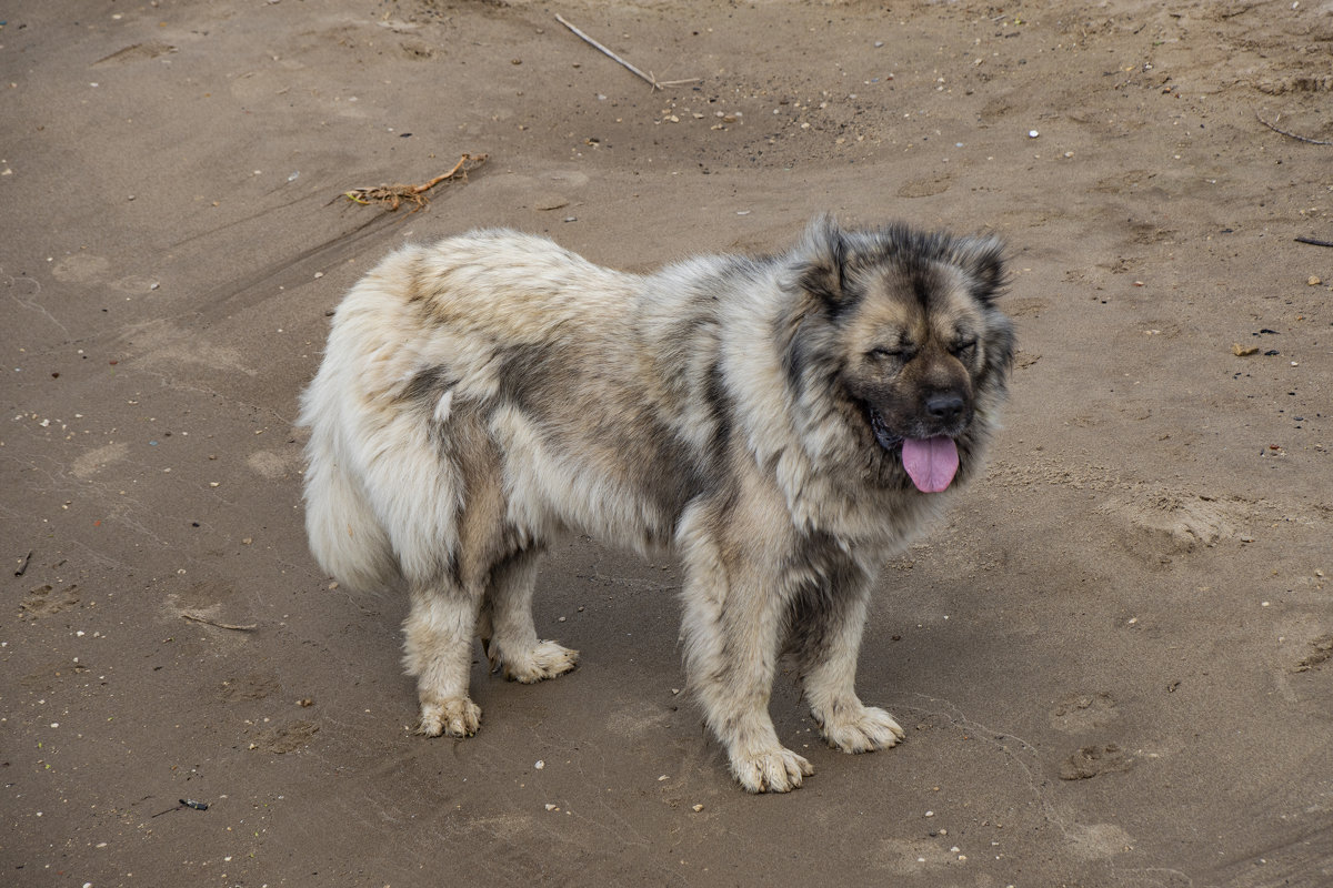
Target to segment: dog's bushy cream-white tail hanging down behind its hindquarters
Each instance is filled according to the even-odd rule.
[[[396,584],[401,572],[389,535],[353,470],[337,389],[339,381],[324,367],[301,397],[300,423],[311,429],[305,533],[315,559],[339,583],[383,590]]]

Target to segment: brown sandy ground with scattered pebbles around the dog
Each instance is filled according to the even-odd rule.
[[[1333,4],[0,19],[0,884],[1333,884]],[[337,198],[465,152],[424,212]],[[481,734],[413,736],[405,602],[303,537],[340,294],[479,225],[647,269],[824,209],[1016,257],[1006,430],[866,632],[908,742],[825,748],[784,679],[817,774],[741,792],[673,567],[580,539],[539,610],[580,668],[479,663]]]

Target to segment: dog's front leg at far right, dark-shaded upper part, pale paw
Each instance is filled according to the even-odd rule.
[[[797,603],[790,650],[801,674],[810,715],[829,746],[844,752],[869,752],[894,746],[902,728],[884,710],[865,706],[856,695],[856,659],[869,603],[869,580],[857,578],[832,595],[806,596]]]

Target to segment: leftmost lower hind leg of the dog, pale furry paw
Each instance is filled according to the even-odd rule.
[[[411,595],[403,662],[408,675],[417,679],[419,731],[428,736],[472,736],[481,723],[481,707],[468,698],[481,596],[452,580],[415,584]]]

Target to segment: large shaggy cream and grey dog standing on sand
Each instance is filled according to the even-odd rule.
[[[784,652],[832,746],[902,739],[853,690],[868,598],[949,498],[908,449],[945,463],[922,489],[978,471],[1013,351],[1001,253],[821,217],[785,254],[651,276],[508,230],[384,260],[303,399],[307,529],[344,583],[405,584],[421,731],[477,730],[476,635],[512,679],[573,668],[532,620],[568,529],[678,554],[689,686],[746,789],[812,772],[768,714]]]

